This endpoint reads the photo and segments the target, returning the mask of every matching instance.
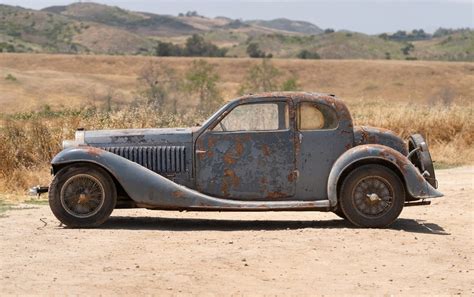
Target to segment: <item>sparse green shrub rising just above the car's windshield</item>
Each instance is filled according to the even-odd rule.
[[[215,110],[222,104],[222,97],[217,88],[219,75],[215,66],[205,60],[193,61],[186,73],[185,88],[190,94],[199,98],[199,109],[204,112]]]

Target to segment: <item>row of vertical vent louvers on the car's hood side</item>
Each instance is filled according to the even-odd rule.
[[[184,146],[119,146],[102,149],[157,173],[186,171],[186,147]]]

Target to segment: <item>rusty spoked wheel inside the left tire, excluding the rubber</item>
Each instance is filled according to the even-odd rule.
[[[104,204],[102,183],[88,174],[70,177],[61,188],[61,205],[70,215],[88,218],[99,212]]]

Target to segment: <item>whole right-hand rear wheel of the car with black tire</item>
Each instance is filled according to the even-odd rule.
[[[376,164],[363,165],[344,179],[339,203],[352,224],[366,228],[387,227],[403,210],[405,188],[391,169]]]

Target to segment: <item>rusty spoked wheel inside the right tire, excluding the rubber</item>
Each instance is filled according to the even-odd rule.
[[[378,217],[386,213],[393,204],[393,188],[388,181],[378,176],[361,179],[352,192],[356,210],[365,217]]]

